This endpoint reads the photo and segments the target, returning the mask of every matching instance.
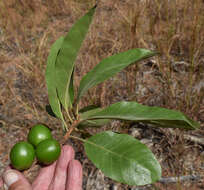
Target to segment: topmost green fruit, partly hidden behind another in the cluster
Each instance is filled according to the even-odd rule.
[[[31,128],[28,133],[28,142],[35,147],[46,139],[52,139],[52,134],[49,128],[44,125],[38,124]]]

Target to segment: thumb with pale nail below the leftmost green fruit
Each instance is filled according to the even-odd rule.
[[[3,181],[9,190],[32,190],[27,179],[17,170],[9,169],[5,171]]]

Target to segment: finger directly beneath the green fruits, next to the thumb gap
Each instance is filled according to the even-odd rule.
[[[40,169],[40,172],[32,184],[33,190],[48,190],[53,179],[56,162]]]

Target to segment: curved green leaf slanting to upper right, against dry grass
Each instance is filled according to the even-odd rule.
[[[154,56],[156,52],[146,49],[131,49],[103,59],[81,80],[77,101],[88,91],[89,88],[105,81],[128,65],[142,59]]]

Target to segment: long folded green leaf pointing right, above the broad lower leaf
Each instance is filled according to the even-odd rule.
[[[118,102],[96,113],[81,114],[81,120],[122,119],[152,123],[162,127],[196,129],[199,124],[183,113],[161,107],[149,107],[137,102]]]

